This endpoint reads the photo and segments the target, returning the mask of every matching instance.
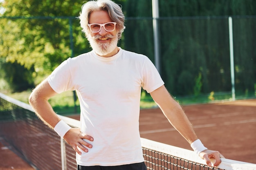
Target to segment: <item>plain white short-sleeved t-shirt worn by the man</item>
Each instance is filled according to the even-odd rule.
[[[100,57],[94,51],[69,58],[48,77],[54,91],[76,90],[81,131],[94,138],[89,152],[76,154],[81,166],[143,162],[139,135],[141,87],[148,93],[164,84],[148,57],[125,51]]]

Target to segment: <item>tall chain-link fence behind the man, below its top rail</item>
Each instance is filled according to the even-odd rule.
[[[126,18],[119,46],[147,55],[154,62],[152,19]],[[231,98],[228,17],[170,17],[157,21],[159,71],[170,93],[178,98],[191,96],[202,101]],[[39,72],[49,74],[67,57],[90,51],[79,20],[74,17],[14,17],[0,18],[0,22],[7,23],[0,28],[1,49],[9,48],[0,57],[12,61],[20,60],[17,56],[32,56],[21,64],[34,67],[34,76]],[[255,30],[256,16],[232,17],[233,88],[237,99],[256,97]],[[14,54],[17,56],[13,57]]]

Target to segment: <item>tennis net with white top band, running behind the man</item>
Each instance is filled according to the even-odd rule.
[[[80,121],[61,116],[67,124]],[[36,170],[76,170],[73,148],[35,115],[29,104],[0,93],[0,137]],[[256,164],[222,159],[218,168],[208,167],[191,150],[141,138],[149,170],[256,170]]]

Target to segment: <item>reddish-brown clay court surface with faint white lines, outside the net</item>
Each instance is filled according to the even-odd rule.
[[[227,159],[256,163],[256,99],[183,106],[198,137]],[[70,116],[79,119],[79,115]],[[159,108],[141,110],[141,137],[191,150]],[[1,145],[0,170],[32,170]]]

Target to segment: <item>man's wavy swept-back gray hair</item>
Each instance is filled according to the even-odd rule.
[[[110,19],[113,22],[116,22],[116,29],[118,31],[118,40],[121,38],[122,33],[124,32],[124,14],[121,7],[111,0],[90,0],[83,4],[80,12],[80,25],[82,31],[85,33],[85,36],[90,35],[90,29],[88,26],[90,14],[93,11],[107,11]]]

